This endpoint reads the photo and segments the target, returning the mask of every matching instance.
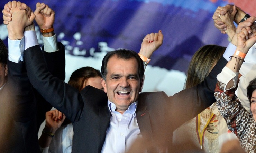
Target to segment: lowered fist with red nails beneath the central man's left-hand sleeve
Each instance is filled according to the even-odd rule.
[[[61,124],[65,120],[66,116],[58,111],[58,110],[51,110],[45,113],[45,129],[48,129],[52,133],[61,127]]]

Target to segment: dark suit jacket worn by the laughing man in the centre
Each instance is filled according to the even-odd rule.
[[[72,121],[72,153],[100,153],[110,123],[107,95],[91,86],[85,87],[79,93],[64,81],[52,77],[45,69],[39,46],[25,50],[24,59],[31,84],[49,103]],[[216,76],[226,63],[227,61],[221,58],[203,83],[172,97],[168,97],[164,92],[140,94],[137,121],[142,136],[153,141],[161,140],[164,135],[171,136],[172,131],[179,125],[214,103]],[[169,144],[171,138],[164,145]]]

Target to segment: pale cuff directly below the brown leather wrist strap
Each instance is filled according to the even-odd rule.
[[[54,34],[51,37],[43,36],[43,43],[44,43],[44,51],[45,52],[52,53],[52,52],[59,50],[56,34]]]

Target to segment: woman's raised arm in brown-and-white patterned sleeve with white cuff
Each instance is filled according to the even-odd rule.
[[[256,20],[255,17],[251,18],[253,18],[251,22]],[[247,20],[247,22],[249,21]],[[238,72],[244,62],[244,57],[248,56],[249,48],[256,42],[256,33],[248,34],[248,31],[244,32],[245,30],[246,28],[237,34],[237,48],[234,55],[230,57],[230,61],[217,76],[218,83],[216,84],[214,95],[217,100],[217,107],[225,118],[229,130],[238,136],[241,145],[248,152],[253,151],[251,150],[253,148],[249,147],[253,146],[252,143],[254,142],[248,141],[247,138],[252,136],[250,135],[252,133],[249,131],[255,128],[255,124],[252,124],[254,122],[253,117],[245,110],[235,95]],[[256,76],[255,73],[252,75]]]

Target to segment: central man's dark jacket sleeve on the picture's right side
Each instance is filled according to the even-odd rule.
[[[174,129],[216,102],[214,98],[216,76],[226,64],[226,59],[221,57],[201,84],[167,98],[167,108],[170,109],[169,117]]]

